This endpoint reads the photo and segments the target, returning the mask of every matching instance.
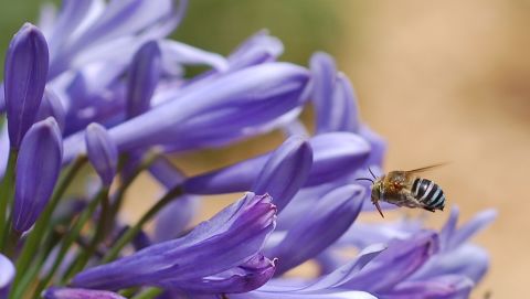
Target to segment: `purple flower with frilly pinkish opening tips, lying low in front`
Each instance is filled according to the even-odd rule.
[[[268,279],[263,276],[271,277],[274,271],[266,270],[274,268],[272,263],[256,257],[275,226],[276,207],[271,200],[247,193],[184,237],[85,270],[72,284],[109,290],[160,286],[184,291],[202,285],[204,290],[211,287],[215,292],[239,291],[242,282],[257,287],[256,279],[265,282]],[[218,289],[220,285],[223,290]]]

